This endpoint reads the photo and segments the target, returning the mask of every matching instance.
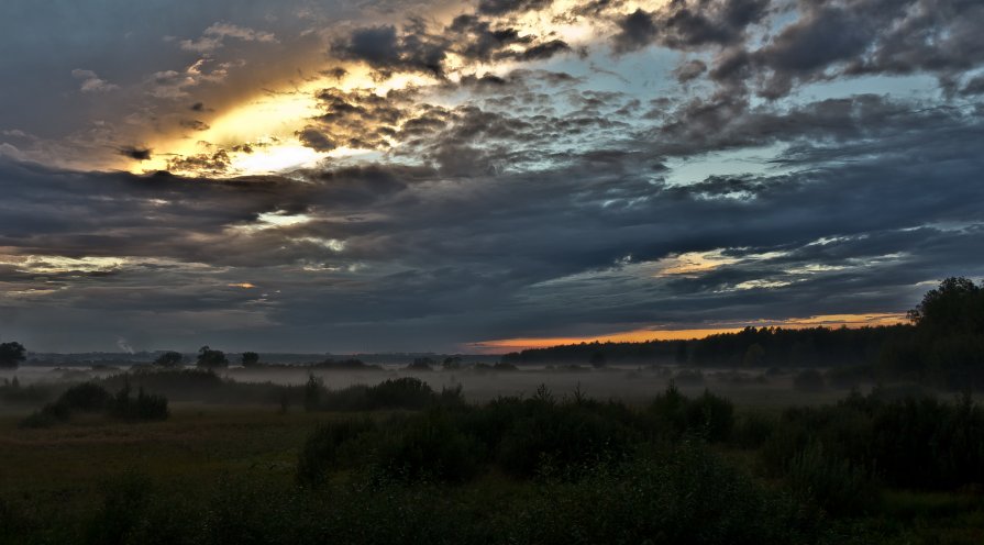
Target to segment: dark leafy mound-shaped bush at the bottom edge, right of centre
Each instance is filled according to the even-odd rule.
[[[511,522],[515,543],[814,543],[817,521],[699,445],[549,483]]]

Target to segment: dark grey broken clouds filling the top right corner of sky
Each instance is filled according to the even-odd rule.
[[[788,15],[790,22],[778,23]],[[752,89],[769,99],[845,76],[918,73],[937,76],[953,92],[962,74],[984,63],[976,31],[984,4],[972,0],[678,0],[609,16],[618,29],[616,54],[650,44],[708,49],[712,80],[732,93]]]

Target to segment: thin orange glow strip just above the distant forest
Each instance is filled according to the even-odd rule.
[[[704,338],[721,333],[737,333],[745,326],[753,327],[783,327],[787,330],[801,330],[806,327],[865,327],[877,325],[895,325],[906,322],[905,314],[900,313],[869,313],[869,314],[823,314],[809,318],[793,318],[787,320],[759,320],[742,324],[721,324],[719,327],[699,327],[688,330],[631,330],[606,335],[583,337],[517,337],[496,341],[484,341],[467,344],[466,347],[483,354],[501,354],[505,352],[518,352],[530,348],[549,348],[581,343],[642,343],[646,341],[689,341]]]

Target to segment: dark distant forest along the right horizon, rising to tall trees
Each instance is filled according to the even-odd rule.
[[[581,343],[504,356],[505,363],[836,367],[859,378],[984,387],[984,283],[948,278],[908,312],[909,324],[860,329],[745,327],[690,341]]]

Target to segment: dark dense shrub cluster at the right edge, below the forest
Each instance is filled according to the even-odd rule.
[[[851,498],[872,500],[874,481],[922,490],[980,486],[984,408],[970,394],[946,403],[854,392],[834,405],[787,409],[761,459],[772,474],[811,488],[831,510],[863,510]]]

